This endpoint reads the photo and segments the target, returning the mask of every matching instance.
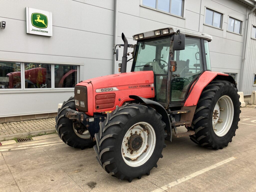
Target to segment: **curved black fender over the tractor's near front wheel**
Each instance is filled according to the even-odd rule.
[[[129,95],[129,98],[134,99],[137,102],[140,103],[145,103],[146,106],[150,106],[152,108],[154,108],[157,113],[159,113],[160,115],[162,115],[162,121],[166,124],[166,130],[170,131],[170,141],[172,141],[172,129],[171,129],[171,125],[170,125],[170,119],[169,119],[169,115],[166,111],[166,109],[159,103],[157,103],[156,101],[150,100],[150,99],[146,99],[143,97],[139,97],[137,95]]]

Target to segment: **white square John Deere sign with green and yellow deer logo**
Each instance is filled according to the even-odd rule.
[[[52,36],[51,12],[26,7],[27,33]]]

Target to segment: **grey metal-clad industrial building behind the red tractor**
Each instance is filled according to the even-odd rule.
[[[212,71],[230,74],[250,95],[256,90],[255,3],[1,0],[0,122],[54,115],[77,82],[118,73],[122,48],[120,61],[113,48],[123,43],[122,32],[135,44],[133,35],[170,26],[212,35]]]

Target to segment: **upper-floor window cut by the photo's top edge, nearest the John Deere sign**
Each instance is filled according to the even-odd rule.
[[[177,16],[183,15],[184,0],[142,0],[144,6]]]

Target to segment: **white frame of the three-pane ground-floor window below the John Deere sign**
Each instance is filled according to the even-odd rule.
[[[80,74],[80,68],[82,66],[82,64],[71,64],[71,63],[40,63],[40,62],[31,62],[31,61],[25,61],[25,62],[21,62],[21,61],[9,61],[9,60],[0,60],[0,62],[18,62],[20,63],[20,79],[21,79],[21,88],[19,89],[0,89],[0,93],[4,93],[4,92],[8,92],[8,93],[21,93],[22,92],[52,92],[52,91],[61,91],[61,90],[66,90],[66,91],[74,91],[73,87],[70,88],[55,88],[55,77],[54,77],[54,65],[70,65],[70,66],[77,66],[77,83],[80,80],[81,74]],[[51,88],[25,88],[25,63],[35,63],[35,64],[46,64],[46,65],[51,65]]]

